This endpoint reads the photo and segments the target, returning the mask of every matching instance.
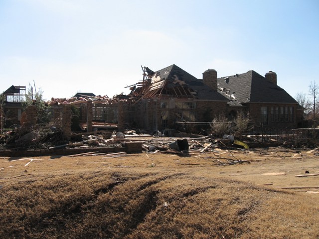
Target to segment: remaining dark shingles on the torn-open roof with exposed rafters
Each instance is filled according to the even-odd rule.
[[[196,93],[194,95],[196,99],[227,101],[227,99],[224,96],[218,94],[216,90],[206,86],[202,80],[190,75],[176,65],[165,67],[155,72],[154,76],[160,76],[161,80],[166,80],[164,87],[167,88],[173,88],[177,84],[188,87],[192,92]]]

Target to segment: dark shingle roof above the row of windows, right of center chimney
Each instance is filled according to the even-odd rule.
[[[230,99],[230,105],[252,102],[296,103],[284,89],[251,70],[217,79],[218,92]]]

